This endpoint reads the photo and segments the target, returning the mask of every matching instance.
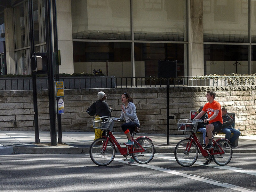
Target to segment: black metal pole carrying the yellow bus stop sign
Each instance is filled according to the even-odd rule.
[[[52,20],[53,20],[53,42],[54,42],[54,52],[58,52],[58,30],[57,30],[57,9],[56,9],[56,0],[52,0]],[[57,73],[55,74],[55,80],[59,81],[59,65],[55,66]],[[56,103],[58,106],[59,99],[57,97]],[[57,113],[57,124],[58,124],[58,143],[62,144],[62,126],[61,126],[61,114]]]

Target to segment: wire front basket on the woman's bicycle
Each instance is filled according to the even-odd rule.
[[[114,117],[107,117],[107,116],[95,117],[95,119],[92,120],[93,128],[113,131],[113,126],[114,126],[113,119]]]

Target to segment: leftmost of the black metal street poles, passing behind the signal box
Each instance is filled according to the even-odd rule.
[[[30,31],[30,52],[31,57],[35,52],[34,43],[34,23],[33,23],[33,0],[28,0],[29,12],[29,31]],[[32,71],[32,70],[31,70]],[[36,92],[36,74],[32,71],[32,85],[33,85],[33,105],[34,105],[34,123],[35,123],[35,142],[40,143],[39,128],[38,128],[38,108],[37,108],[37,92]]]

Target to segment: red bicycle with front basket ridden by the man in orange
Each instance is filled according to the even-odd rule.
[[[190,132],[189,138],[181,140],[175,147],[174,156],[178,164],[183,167],[193,165],[198,157],[198,153],[202,156],[213,158],[213,161],[218,165],[226,165],[230,162],[233,154],[232,147],[227,139],[212,139],[213,148],[204,149],[200,141],[196,137],[196,129],[198,122],[203,122],[201,119],[180,119],[178,122],[178,130]],[[213,133],[213,137],[216,134]]]

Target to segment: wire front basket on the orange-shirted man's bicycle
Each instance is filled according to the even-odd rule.
[[[180,119],[178,122],[178,131],[196,132],[198,122],[200,119]]]

